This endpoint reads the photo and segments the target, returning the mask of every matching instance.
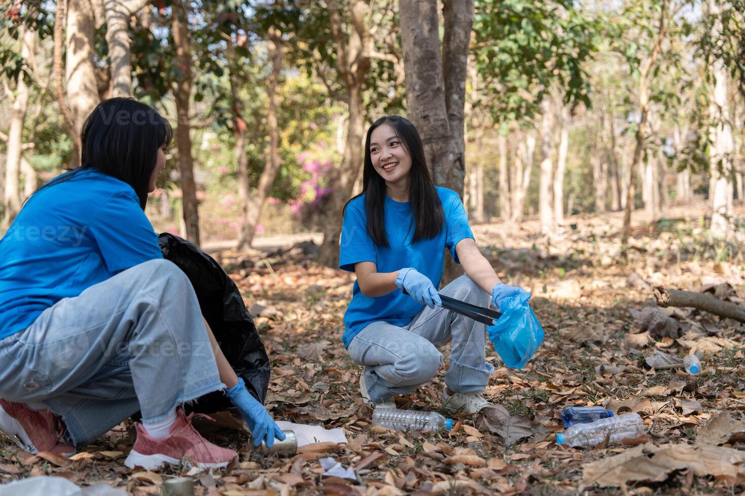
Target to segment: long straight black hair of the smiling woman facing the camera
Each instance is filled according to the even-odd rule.
[[[411,169],[409,171],[409,200],[413,219],[416,221],[412,242],[419,239],[431,239],[440,233],[443,228],[443,204],[440,196],[427,169],[427,161],[422,146],[422,138],[419,132],[409,120],[398,115],[389,115],[375,120],[370,129],[367,129],[365,140],[365,161],[362,170],[362,196],[365,198],[365,211],[367,213],[367,232],[373,238],[375,245],[388,247],[388,239],[385,235],[385,180],[373,167],[373,159],[370,158],[370,135],[375,128],[387,124],[396,132],[402,146],[411,157]],[[357,198],[358,196],[355,196]],[[351,202],[353,199],[349,200]],[[346,204],[349,204],[346,202]],[[346,205],[344,206],[346,210]]]

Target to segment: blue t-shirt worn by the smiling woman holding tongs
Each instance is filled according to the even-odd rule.
[[[344,213],[341,229],[339,268],[354,272],[355,263],[374,262],[378,272],[394,272],[401,268],[413,267],[432,281],[435,288],[440,287],[445,263],[445,248],[450,250],[453,260],[460,263],[455,253],[455,245],[461,239],[473,238],[468,224],[468,216],[453,190],[437,187],[437,195],[443,204],[445,219],[440,233],[431,239],[419,239],[412,243],[416,222],[413,222],[410,202],[396,202],[385,197],[385,234],[388,248],[375,245],[367,233],[367,213],[365,195],[349,202]],[[355,281],[352,301],[344,314],[344,347],[349,347],[352,338],[367,324],[386,321],[394,326],[405,326],[422,310],[402,291],[394,291],[384,296],[368,297],[362,294]]]

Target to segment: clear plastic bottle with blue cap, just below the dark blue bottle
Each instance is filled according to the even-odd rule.
[[[557,444],[592,447],[603,442],[610,434],[609,442],[644,435],[644,422],[638,413],[612,416],[589,424],[572,425],[563,434],[557,434]]]

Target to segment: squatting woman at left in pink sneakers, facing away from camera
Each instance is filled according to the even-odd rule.
[[[0,239],[0,431],[68,452],[136,411],[125,464],[226,466],[181,407],[225,390],[254,442],[284,434],[235,376],[186,274],[145,216],[171,126],[127,98],[83,125],[82,166],[41,187]]]

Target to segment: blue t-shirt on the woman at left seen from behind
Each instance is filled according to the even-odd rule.
[[[0,239],[0,338],[59,300],[156,258],[158,235],[124,181],[86,169],[39,190]]]

